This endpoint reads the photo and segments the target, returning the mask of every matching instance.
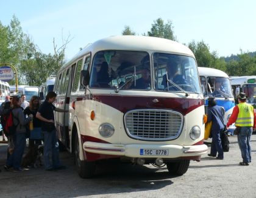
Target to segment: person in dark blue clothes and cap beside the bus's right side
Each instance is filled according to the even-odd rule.
[[[221,145],[221,131],[224,129],[224,121],[223,121],[223,112],[221,107],[216,104],[216,100],[214,97],[208,98],[208,110],[207,110],[207,123],[212,121],[212,146],[211,151],[208,156],[216,157],[217,152],[218,156],[216,159],[223,160],[224,153]]]

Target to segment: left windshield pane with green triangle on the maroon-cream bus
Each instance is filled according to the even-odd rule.
[[[113,50],[96,53],[89,86],[105,89],[119,87],[123,90],[151,89],[149,54]]]

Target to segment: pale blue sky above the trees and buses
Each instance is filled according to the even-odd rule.
[[[60,47],[69,36],[66,59],[98,39],[121,35],[124,26],[147,33],[158,18],[172,21],[179,43],[204,41],[218,56],[256,51],[255,0],[0,0],[0,5],[2,25],[15,15],[43,53],[54,53],[53,39]]]

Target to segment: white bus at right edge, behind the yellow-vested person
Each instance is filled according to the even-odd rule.
[[[230,83],[235,98],[244,92],[248,97],[247,103],[256,109],[256,76],[230,77]]]

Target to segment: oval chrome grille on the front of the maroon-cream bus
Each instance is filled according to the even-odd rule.
[[[139,140],[172,140],[182,131],[183,115],[160,109],[132,110],[124,115],[127,134]]]

